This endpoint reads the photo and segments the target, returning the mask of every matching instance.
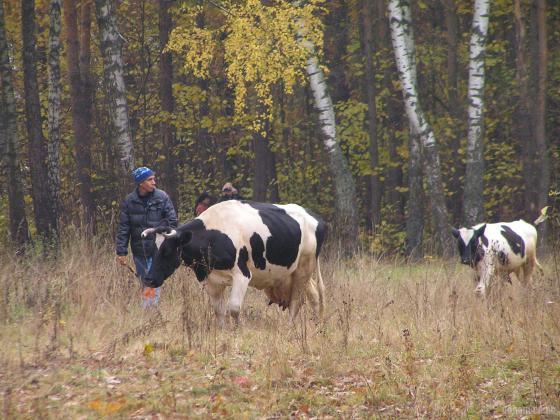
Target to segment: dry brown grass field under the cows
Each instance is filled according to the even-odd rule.
[[[455,261],[327,256],[322,323],[251,289],[225,330],[184,267],[142,310],[109,243],[1,263],[3,418],[560,416],[558,258],[481,300]]]

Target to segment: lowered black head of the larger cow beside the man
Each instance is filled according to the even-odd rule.
[[[169,229],[162,234],[165,240],[158,247],[150,271],[142,280],[144,286],[160,287],[175,272],[181,265],[181,249],[192,237],[192,232],[180,229]]]

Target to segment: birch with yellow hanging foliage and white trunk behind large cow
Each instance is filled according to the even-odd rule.
[[[252,100],[248,92],[255,92],[257,100],[270,111],[273,86],[281,85],[290,94],[296,84],[309,83],[334,181],[336,228],[344,250],[352,253],[358,234],[356,186],[340,148],[332,99],[319,66],[316,48],[323,41],[323,27],[316,16],[319,3],[274,2],[270,6],[260,0],[248,0],[231,4],[229,10],[220,6],[225,11],[225,39],[218,39],[217,31],[184,26],[173,31],[168,48],[184,54],[185,67],[195,76],[208,78],[212,50],[222,43],[226,76],[235,92],[238,115],[244,114]],[[198,12],[195,10],[194,15]],[[262,130],[267,118],[272,117],[260,115],[252,128]]]

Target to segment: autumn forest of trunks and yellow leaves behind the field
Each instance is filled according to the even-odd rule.
[[[231,181],[244,197],[314,210],[346,249],[374,253],[445,253],[441,226],[532,221],[557,204],[559,5],[491,2],[478,220],[465,205],[475,4],[412,2],[405,28],[436,160],[415,147],[387,6],[0,1],[3,246],[56,243],[69,226],[112,234],[140,165],[182,222],[201,192]],[[336,132],[316,109],[317,74]]]

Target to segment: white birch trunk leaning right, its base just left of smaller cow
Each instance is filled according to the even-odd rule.
[[[444,255],[452,251],[437,142],[420,106],[416,87],[416,63],[411,60],[414,39],[411,34],[410,5],[408,0],[389,1],[391,39],[403,90],[405,110],[412,135],[418,134],[422,146],[422,160],[438,246]]]

